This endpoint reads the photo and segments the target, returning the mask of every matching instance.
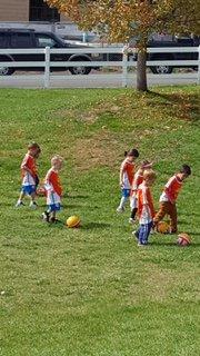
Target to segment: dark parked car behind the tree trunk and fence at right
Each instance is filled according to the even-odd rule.
[[[198,47],[200,44],[200,38],[190,38],[190,37],[163,37],[161,40],[159,37],[152,37],[149,42],[148,47],[150,48],[164,48],[164,47]],[[132,44],[131,44],[132,46]],[[137,55],[129,55],[129,60],[137,60]],[[113,61],[121,61],[122,60],[122,55],[119,53],[110,53],[110,55],[104,55],[104,60],[113,60]],[[198,60],[198,52],[170,52],[170,53],[149,53],[148,55],[148,60],[151,61],[157,61],[157,60]],[[159,66],[149,66],[151,71],[156,75],[160,73],[171,73],[174,68],[191,68],[191,69],[197,69],[196,66],[171,66],[171,65],[159,65]]]

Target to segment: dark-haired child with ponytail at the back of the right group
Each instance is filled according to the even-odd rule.
[[[126,202],[130,197],[132,181],[134,177],[134,161],[139,157],[137,149],[131,149],[129,152],[124,152],[126,159],[121,164],[120,168],[120,187],[121,187],[121,201],[117,208],[117,212],[123,212]]]

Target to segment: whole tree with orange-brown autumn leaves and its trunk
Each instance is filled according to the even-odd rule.
[[[107,29],[108,41],[137,38],[137,87],[147,90],[147,47],[152,33],[200,34],[200,0],[46,0],[83,30]]]

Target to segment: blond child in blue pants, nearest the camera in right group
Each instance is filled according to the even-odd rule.
[[[152,169],[143,171],[143,182],[138,188],[138,215],[139,229],[133,231],[138,239],[138,246],[147,246],[149,234],[153,226],[154,207],[150,187],[156,180],[156,172]]]

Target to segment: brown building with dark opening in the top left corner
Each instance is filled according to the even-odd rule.
[[[57,9],[51,9],[43,0],[0,0],[0,21],[66,21]]]

